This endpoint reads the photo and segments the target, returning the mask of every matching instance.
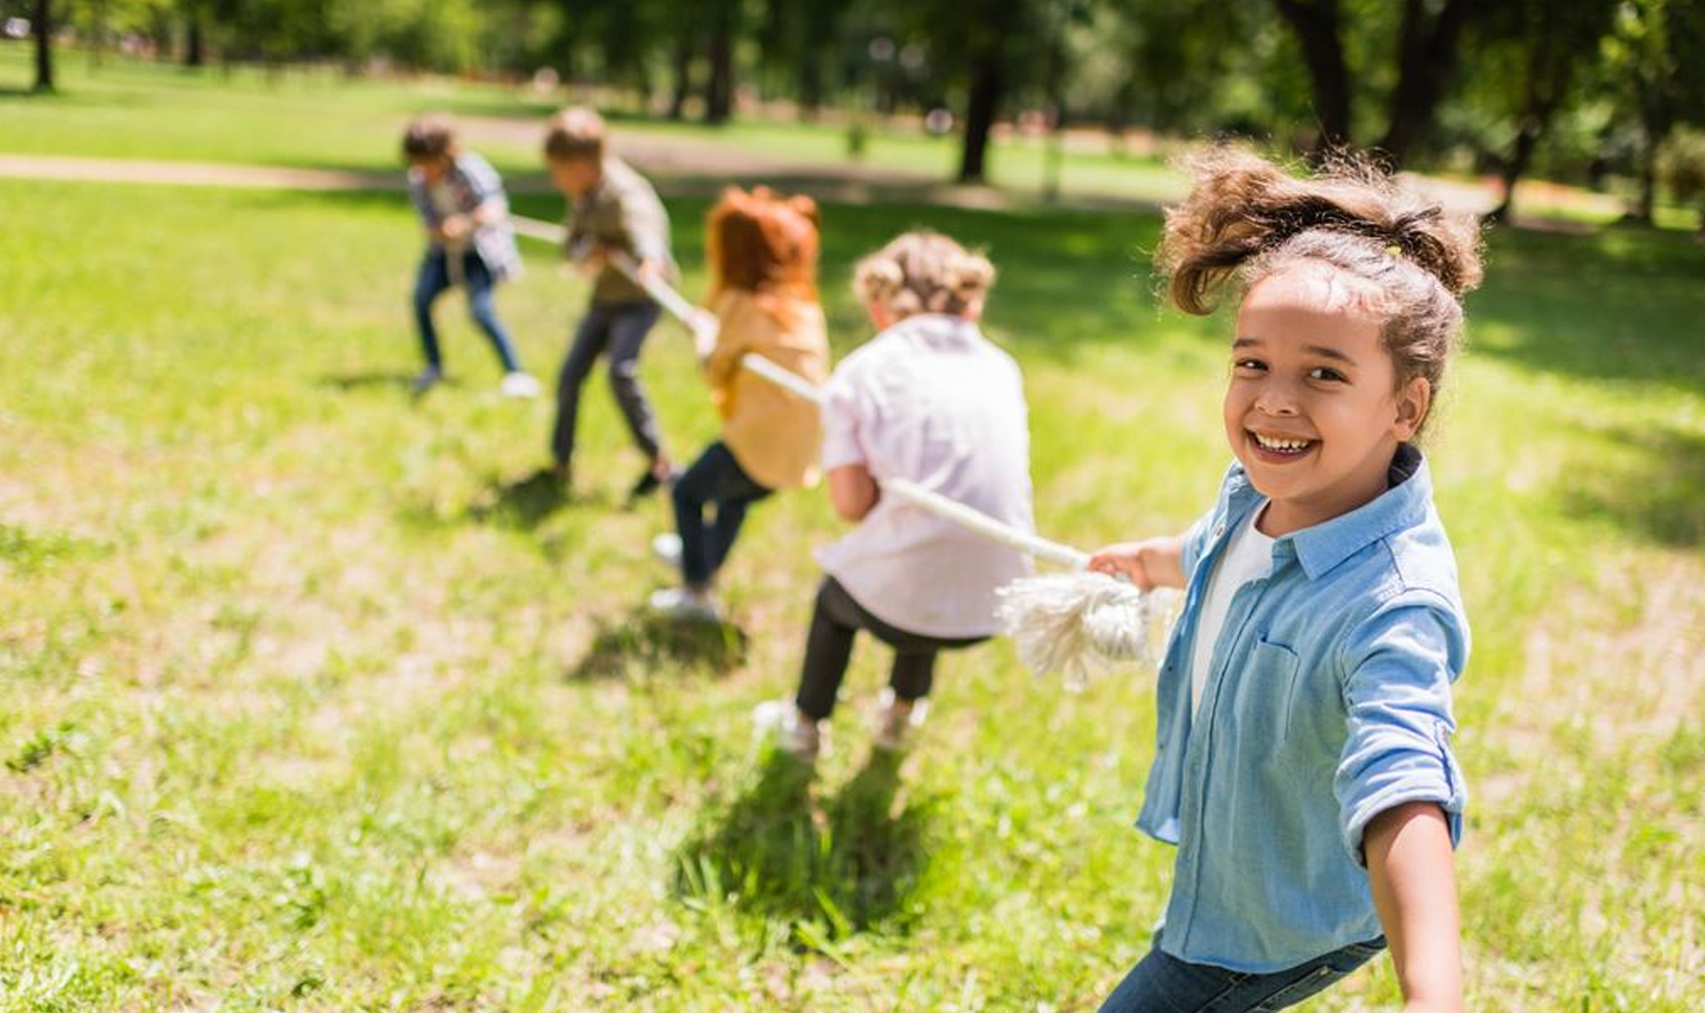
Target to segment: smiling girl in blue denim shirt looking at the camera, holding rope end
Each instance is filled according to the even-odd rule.
[[[1137,825],[1178,848],[1153,950],[1103,1013],[1270,1011],[1391,946],[1410,1013],[1461,1010],[1456,559],[1417,449],[1480,280],[1470,222],[1340,165],[1216,150],[1159,263],[1241,297],[1236,462],[1188,532],[1091,566],[1185,590]]]

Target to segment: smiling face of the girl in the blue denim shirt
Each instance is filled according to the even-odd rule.
[[[1427,414],[1430,387],[1396,368],[1362,283],[1303,263],[1250,288],[1238,309],[1226,438],[1272,503],[1279,537],[1349,513],[1386,489],[1396,445]]]

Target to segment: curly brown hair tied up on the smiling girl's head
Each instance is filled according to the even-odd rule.
[[[1209,314],[1228,287],[1248,292],[1299,261],[1328,264],[1371,290],[1398,387],[1425,377],[1437,396],[1463,326],[1461,297],[1480,285],[1471,217],[1446,215],[1352,157],[1308,179],[1229,147],[1187,167],[1195,186],[1168,208],[1156,254],[1178,309]]]

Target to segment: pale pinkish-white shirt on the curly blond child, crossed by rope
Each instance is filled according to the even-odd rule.
[[[977,324],[907,317],[842,360],[824,394],[824,471],[863,464],[878,483],[910,479],[1035,529],[1023,379]],[[948,640],[999,633],[996,588],[1030,573],[1026,556],[893,496],[817,561],[883,622]]]

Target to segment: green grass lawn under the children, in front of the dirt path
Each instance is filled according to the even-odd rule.
[[[363,94],[329,131],[414,101]],[[102,133],[111,102],[68,102],[31,150]],[[699,290],[704,205],[670,210]],[[1205,506],[1226,324],[1158,310],[1154,217],[824,218],[839,351],[856,256],[919,223],[989,249],[1047,534]],[[575,501],[518,481],[551,408],[496,397],[454,302],[455,384],[407,399],[397,194],[3,181],[0,222],[0,1011],[1066,1011],[1147,946],[1147,675],[1067,694],[1004,643],[951,657],[895,766],[866,646],[818,779],[772,764],[747,715],[795,682],[824,496],[755,512],[738,629],[648,622],[667,517],[621,506],[602,391]],[[529,268],[500,307],[549,373],[585,288]],[[1470,304],[1432,460],[1475,624],[1473,1010],[1705,1008],[1702,276],[1674,232],[1506,232]],[[646,380],[696,452],[679,331]],[[1381,960],[1306,1010],[1395,998]]]

